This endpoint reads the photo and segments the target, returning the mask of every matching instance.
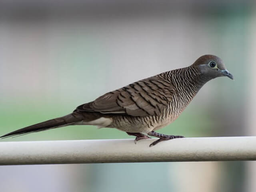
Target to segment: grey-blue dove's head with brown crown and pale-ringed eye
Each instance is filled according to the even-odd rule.
[[[219,76],[227,76],[234,79],[233,75],[226,69],[223,61],[215,55],[203,55],[199,57],[192,66],[198,67],[200,72],[208,80]]]

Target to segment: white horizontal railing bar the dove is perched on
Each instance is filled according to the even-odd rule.
[[[256,137],[0,142],[0,165],[256,160]]]

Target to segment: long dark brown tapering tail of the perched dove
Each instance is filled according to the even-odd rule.
[[[6,137],[11,137],[16,135],[23,135],[26,133],[44,131],[46,129],[52,129],[57,127],[64,127],[64,126],[72,125],[78,121],[82,121],[82,119],[83,117],[80,113],[73,112],[72,114],[68,114],[60,118],[55,118],[52,120],[44,121],[42,123],[30,125],[28,127],[24,127],[16,131],[12,131],[10,133],[2,135],[0,138],[6,138]]]

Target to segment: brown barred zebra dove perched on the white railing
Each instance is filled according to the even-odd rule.
[[[234,79],[222,59],[215,55],[203,55],[192,65],[139,80],[110,91],[92,102],[78,106],[72,113],[44,121],[0,138],[23,135],[68,125],[96,125],[125,131],[140,139],[157,137],[150,147],[160,141],[183,138],[181,135],[165,135],[156,130],[178,118],[196,96],[200,88],[211,79],[227,76]]]

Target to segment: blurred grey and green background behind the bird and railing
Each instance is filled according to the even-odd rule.
[[[254,136],[254,0],[1,0],[0,135],[64,116],[105,92],[218,55],[208,82],[160,133]],[[69,126],[1,140],[133,138]],[[0,166],[3,192],[255,192],[256,162]]]

